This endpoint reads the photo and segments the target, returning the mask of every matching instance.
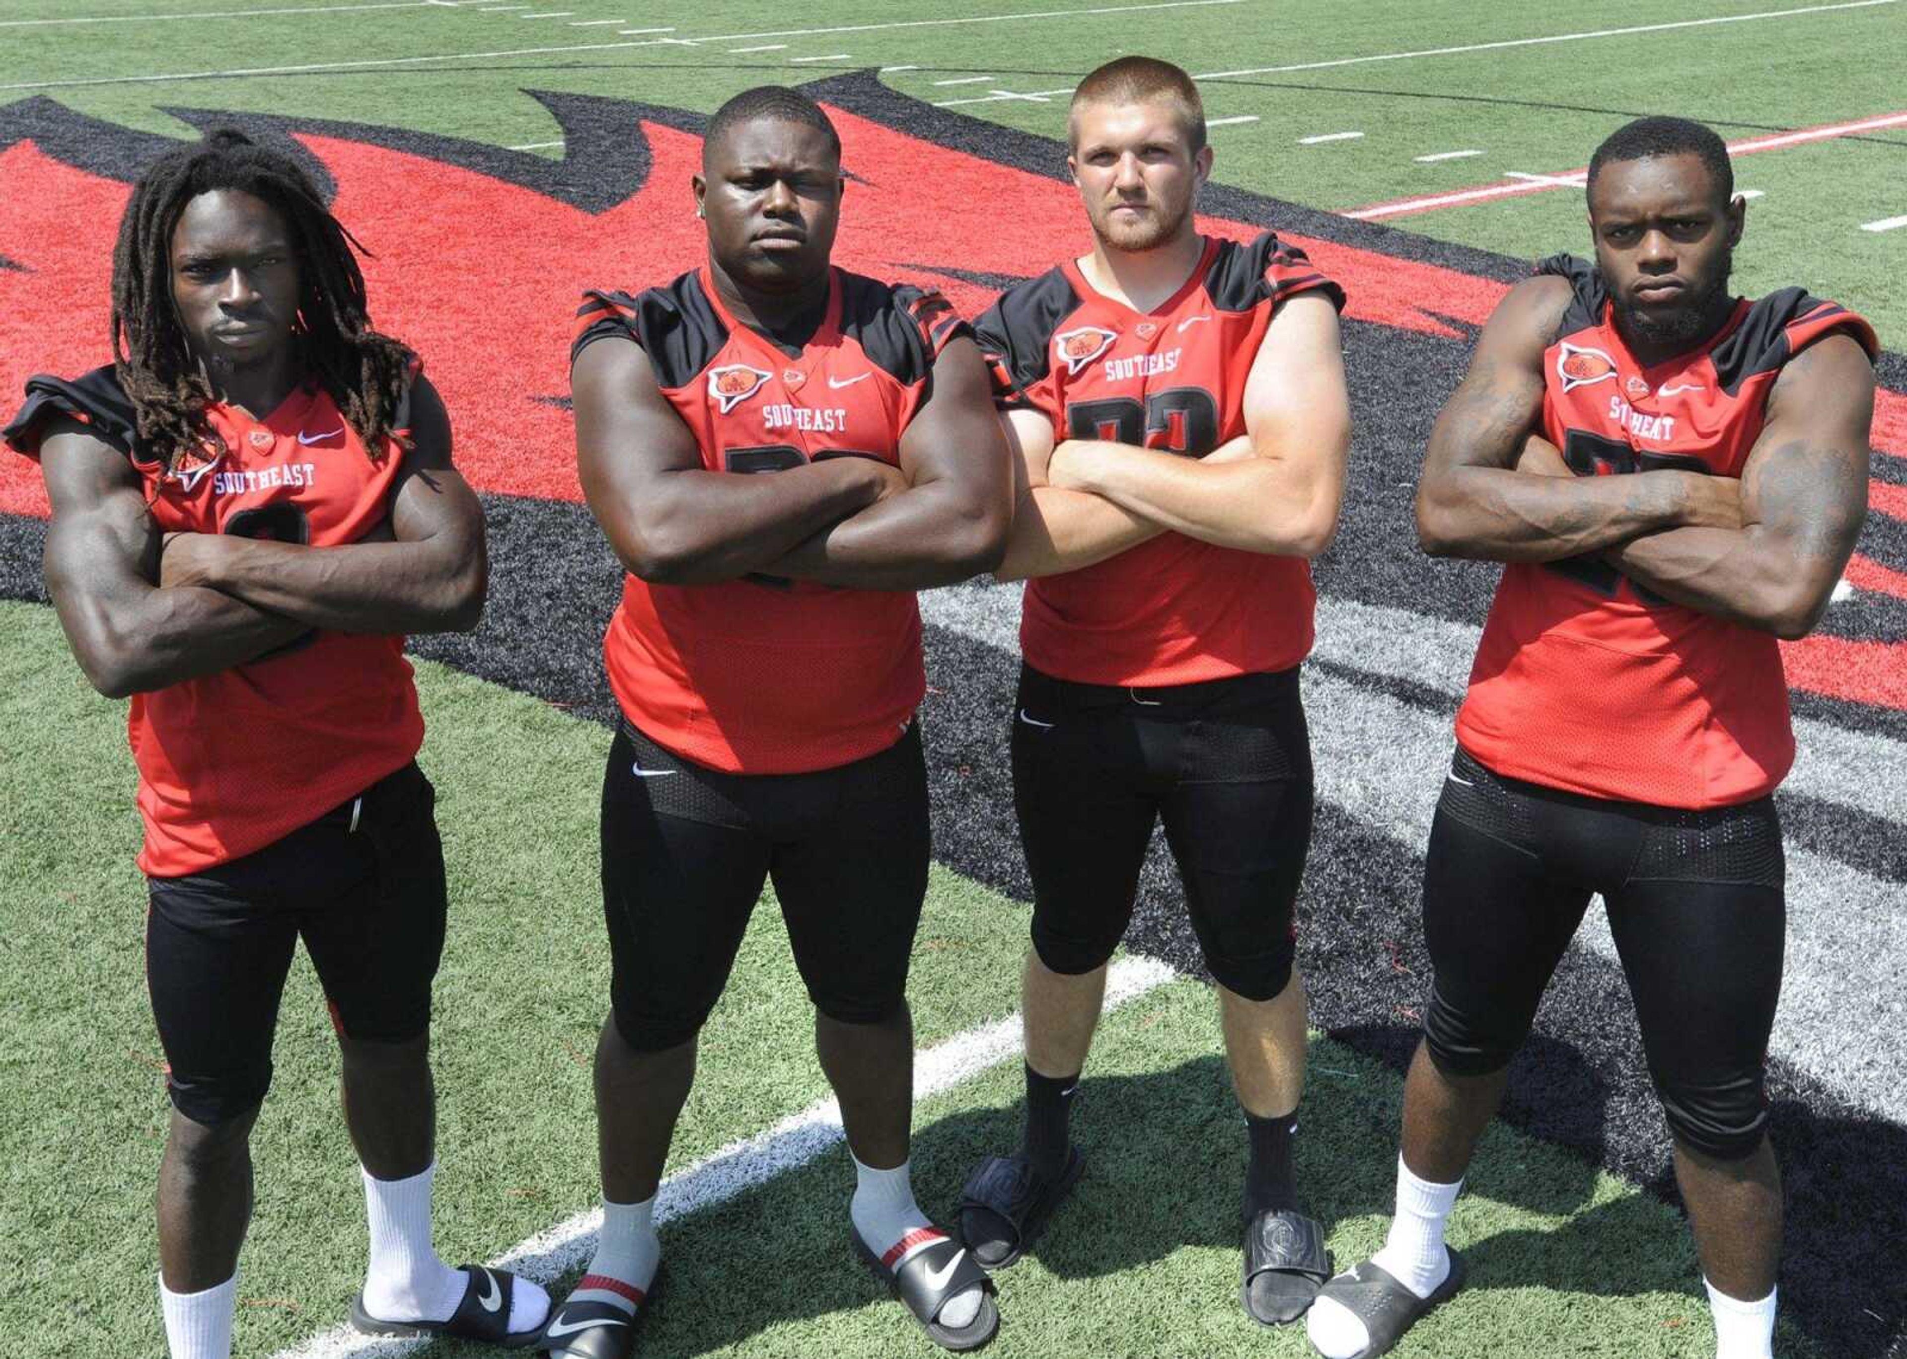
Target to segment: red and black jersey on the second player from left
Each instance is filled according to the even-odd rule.
[[[728,315],[704,267],[635,298],[585,294],[570,361],[606,336],[641,345],[709,471],[828,456],[898,466],[934,359],[965,330],[938,292],[833,269],[820,328],[789,349]],[[603,655],[631,723],[730,773],[871,756],[900,739],[927,689],[919,607],[900,590],[627,576]]]

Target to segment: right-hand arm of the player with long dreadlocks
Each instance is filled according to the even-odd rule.
[[[412,449],[391,494],[389,533],[330,548],[177,534],[160,561],[164,584],[236,596],[330,632],[467,632],[482,617],[488,557],[482,506],[450,464],[450,416],[418,378]]]

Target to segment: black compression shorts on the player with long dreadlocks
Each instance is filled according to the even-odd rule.
[[[242,859],[147,880],[145,973],[179,1113],[217,1124],[265,1098],[297,939],[339,1035],[429,1031],[446,907],[433,807],[410,763]]]

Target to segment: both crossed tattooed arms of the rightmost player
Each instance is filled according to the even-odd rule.
[[[1430,431],[1417,487],[1425,550],[1486,561],[1600,554],[1690,609],[1777,638],[1812,632],[1867,513],[1875,374],[1859,344],[1831,334],[1789,361],[1739,483],[1672,470],[1575,477],[1531,433],[1543,351],[1568,300],[1562,279],[1529,279],[1484,326]]]

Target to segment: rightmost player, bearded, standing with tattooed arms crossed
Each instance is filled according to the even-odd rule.
[[[1806,636],[1867,508],[1873,328],[1728,290],[1745,202],[1682,118],[1589,162],[1594,261],[1514,286],[1430,433],[1417,529],[1503,561],[1425,865],[1436,968],[1383,1250],[1308,1319],[1388,1351],[1463,1281],[1444,1222],[1510,1057],[1600,893],[1701,1256],[1718,1359],[1766,1359],[1781,1176],[1762,1065],[1781,991],[1772,794]]]

